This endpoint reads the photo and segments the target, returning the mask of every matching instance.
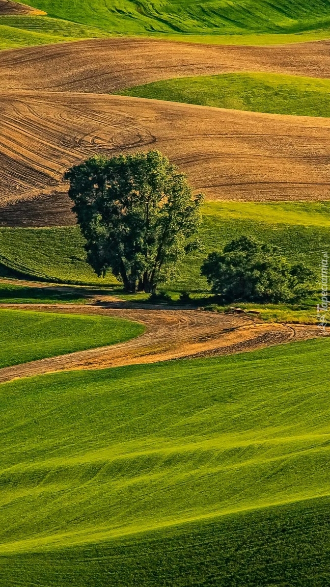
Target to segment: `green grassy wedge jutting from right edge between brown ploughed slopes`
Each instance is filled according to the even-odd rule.
[[[123,96],[274,114],[330,116],[330,80],[272,73],[181,77],[131,87]]]

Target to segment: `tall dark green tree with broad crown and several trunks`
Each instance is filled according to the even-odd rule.
[[[111,269],[127,292],[154,292],[198,247],[203,196],[159,151],[91,157],[65,179],[90,265],[99,276]]]

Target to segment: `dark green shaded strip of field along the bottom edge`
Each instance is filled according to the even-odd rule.
[[[330,582],[329,498],[80,548],[2,556],[6,587],[321,587]]]

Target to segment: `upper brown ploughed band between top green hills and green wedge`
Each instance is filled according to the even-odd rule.
[[[111,93],[170,77],[273,72],[330,77],[330,41],[277,46],[89,39],[1,53],[2,89]]]

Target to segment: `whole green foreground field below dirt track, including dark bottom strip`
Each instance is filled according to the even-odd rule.
[[[324,339],[2,384],[0,584],[328,585],[329,358]]]

